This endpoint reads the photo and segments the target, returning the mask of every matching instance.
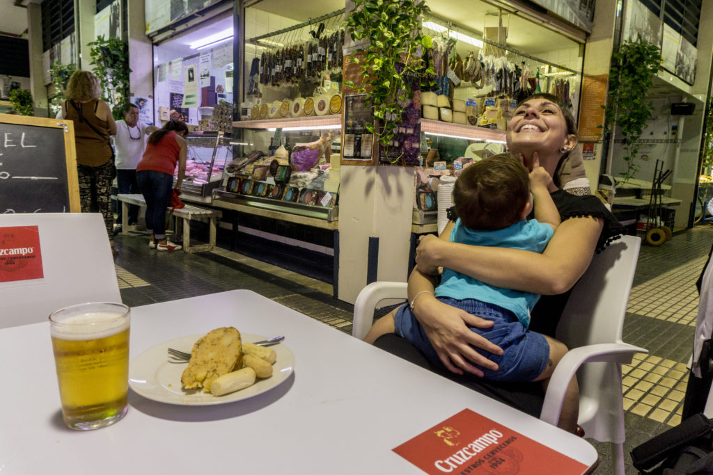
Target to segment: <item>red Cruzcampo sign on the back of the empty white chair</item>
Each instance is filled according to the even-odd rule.
[[[43,277],[37,226],[0,227],[0,282]]]

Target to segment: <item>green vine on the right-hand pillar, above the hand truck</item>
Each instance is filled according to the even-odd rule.
[[[627,165],[621,174],[624,182],[632,179],[639,170],[636,162],[638,140],[654,110],[653,103],[647,102],[646,94],[661,69],[661,61],[661,48],[641,36],[636,41],[625,41],[612,53],[607,105],[602,105],[606,118],[604,130],[612,132],[616,126],[617,132],[623,136],[623,159]]]

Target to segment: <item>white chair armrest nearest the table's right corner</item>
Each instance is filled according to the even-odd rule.
[[[628,363],[631,362],[635,353],[649,353],[649,351],[628,343],[597,343],[569,350],[550,377],[540,419],[557,425],[565,399],[565,391],[580,366],[596,361]]]

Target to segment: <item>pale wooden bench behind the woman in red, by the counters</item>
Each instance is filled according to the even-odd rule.
[[[128,234],[130,226],[128,225],[128,207],[130,204],[135,204],[139,207],[146,207],[146,201],[143,199],[143,194],[117,194],[116,199],[121,202],[121,234]],[[168,212],[168,211],[167,211]],[[215,249],[215,229],[216,220],[220,219],[222,212],[217,209],[207,209],[192,204],[186,204],[181,209],[175,209],[171,213],[175,219],[175,234],[183,235],[183,252],[203,252],[212,251]],[[180,219],[179,219],[180,218]],[[210,237],[207,244],[190,245],[190,220],[207,219],[210,225]],[[133,226],[132,226],[133,227]]]

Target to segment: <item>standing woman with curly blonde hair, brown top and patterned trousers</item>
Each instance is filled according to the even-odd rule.
[[[62,118],[74,122],[81,210],[102,214],[111,251],[116,256],[111,210],[111,182],[116,177],[116,167],[110,142],[110,136],[116,135],[116,122],[109,105],[100,99],[99,80],[89,71],[75,71],[65,93]]]

